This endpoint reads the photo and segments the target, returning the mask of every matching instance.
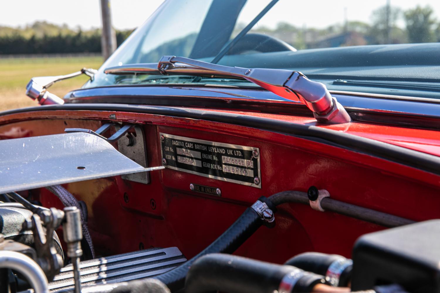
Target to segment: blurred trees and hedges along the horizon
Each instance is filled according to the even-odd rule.
[[[235,32],[245,26],[245,23],[238,23]],[[440,22],[430,6],[417,5],[405,11],[399,7],[383,6],[371,13],[370,23],[347,21],[316,29],[280,22],[275,28],[256,25],[252,32],[269,34],[297,49],[427,43],[440,41]],[[117,31],[117,45],[130,33],[132,30]],[[35,22],[18,28],[0,26],[0,54],[81,52],[101,52],[100,29],[81,30],[48,22]]]

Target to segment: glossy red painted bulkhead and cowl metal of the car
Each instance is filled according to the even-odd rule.
[[[21,127],[32,136],[62,133],[65,127],[96,129],[113,112],[41,111],[0,117],[0,132]],[[242,115],[312,119],[259,113]],[[108,255],[145,248],[177,246],[192,257],[226,230],[261,195],[284,190],[306,191],[311,185],[327,189],[334,199],[421,221],[438,218],[440,177],[365,154],[283,134],[227,123],[139,113],[117,113],[119,121],[144,124],[150,166],[161,164],[158,133],[260,148],[261,186],[253,188],[165,169],[150,172],[148,185],[121,177],[67,184],[77,199],[88,204],[89,227],[98,254]],[[11,123],[8,123],[11,122]],[[375,137],[395,144],[413,144],[437,152],[439,135],[363,123],[326,126],[334,130]],[[415,146],[414,146],[415,145]],[[215,197],[191,192],[190,183],[221,188]],[[128,202],[124,201],[124,194]],[[44,206],[58,199],[41,192]],[[151,206],[154,200],[155,207]],[[276,227],[261,227],[236,252],[239,255],[283,262],[304,251],[351,254],[353,242],[374,224],[309,206],[284,204],[276,213]],[[264,253],[262,253],[262,251]]]

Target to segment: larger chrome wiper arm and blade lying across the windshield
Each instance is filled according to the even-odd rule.
[[[155,65],[155,68],[154,68]],[[194,75],[244,79],[291,101],[300,101],[322,123],[351,121],[344,107],[323,83],[309,80],[301,72],[285,69],[230,67],[190,58],[163,56],[157,63],[132,64],[104,70],[109,74]]]

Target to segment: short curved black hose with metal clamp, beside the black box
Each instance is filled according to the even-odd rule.
[[[352,261],[338,254],[327,254],[319,252],[305,252],[287,260],[284,264],[301,268],[304,271],[311,271],[318,275],[327,275],[331,264],[344,264],[337,280],[337,286],[348,287],[352,276]]]

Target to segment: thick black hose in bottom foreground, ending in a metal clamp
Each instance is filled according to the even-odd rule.
[[[305,272],[292,266],[212,253],[194,261],[187,274],[185,291],[188,293],[274,292],[279,290],[284,277],[291,274],[295,276],[292,279],[298,279],[290,292],[311,292],[316,284],[324,283],[322,275]]]

